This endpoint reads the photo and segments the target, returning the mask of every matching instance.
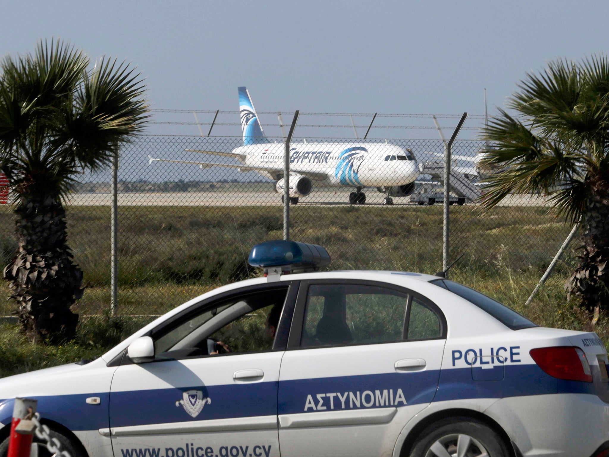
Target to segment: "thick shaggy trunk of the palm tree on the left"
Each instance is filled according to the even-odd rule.
[[[18,303],[19,324],[26,335],[35,342],[57,344],[76,333],[78,314],[70,307],[82,297],[82,271],[66,245],[62,202],[40,184],[19,195],[18,250],[4,277],[10,280],[11,298]]]

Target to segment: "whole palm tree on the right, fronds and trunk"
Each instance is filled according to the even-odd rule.
[[[609,297],[609,62],[555,60],[529,73],[509,98],[515,113],[499,110],[484,129],[492,146],[481,165],[497,170],[486,181],[482,205],[509,193],[542,193],[553,210],[582,224],[579,266],[566,283],[588,311]]]

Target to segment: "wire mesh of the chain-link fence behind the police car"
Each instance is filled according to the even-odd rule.
[[[118,314],[162,314],[260,274],[248,266],[248,252],[283,237],[276,191],[283,141],[243,148],[241,136],[144,136],[121,147]],[[473,200],[483,147],[470,140],[452,146],[449,260],[462,257],[451,275],[524,302],[571,227],[534,195],[509,196],[482,213]],[[333,269],[440,271],[444,153],[441,140],[294,139],[290,238],[326,247]],[[85,275],[85,294],[74,306],[81,315],[110,308],[111,188],[110,170],[83,175],[66,202],[69,246]],[[0,216],[6,261],[15,247],[14,222],[9,207]],[[2,302],[0,315],[13,308]]]

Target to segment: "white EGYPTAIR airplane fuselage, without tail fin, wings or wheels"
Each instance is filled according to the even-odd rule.
[[[242,163],[246,166],[283,169],[283,143],[250,144],[233,152],[245,156]],[[261,174],[278,179],[277,174]],[[329,186],[389,187],[412,183],[420,172],[417,160],[403,147],[358,141],[292,143],[290,174],[312,176]]]

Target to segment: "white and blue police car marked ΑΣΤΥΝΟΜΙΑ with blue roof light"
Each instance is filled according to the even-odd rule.
[[[311,244],[262,243],[250,263],[265,277],[97,360],[0,380],[0,454],[28,397],[72,457],[608,455],[596,334],[437,276],[312,272],[329,256]]]

